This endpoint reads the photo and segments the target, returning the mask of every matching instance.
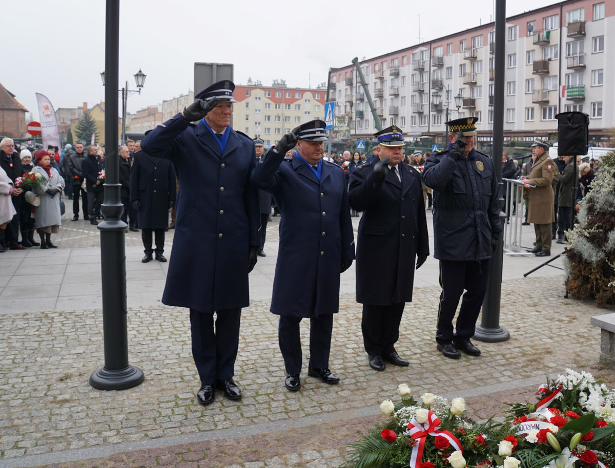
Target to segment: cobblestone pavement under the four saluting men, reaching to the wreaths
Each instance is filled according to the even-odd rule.
[[[481,357],[452,361],[433,340],[439,288],[415,288],[397,346],[410,367],[384,372],[368,367],[360,306],[344,294],[330,361],[341,383],[325,385],[304,369],[299,392],[284,389],[269,301],[253,301],[243,313],[236,365],[244,397],[217,394],[207,407],[196,402],[181,308],[129,309],[130,364],[146,378],[124,391],[88,383],[103,365],[100,311],[0,315],[0,466],[339,466],[344,447],[373,426],[379,403],[394,398],[400,383],[417,395],[465,396],[484,418],[513,397],[531,399],[546,375],[568,366],[614,382],[611,371],[597,368],[600,330],[589,325],[604,310],[566,300],[564,292],[561,279],[502,284],[501,324],[512,338],[480,344]],[[307,354],[307,326],[302,333]]]

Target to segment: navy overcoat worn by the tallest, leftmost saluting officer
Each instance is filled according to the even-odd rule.
[[[162,302],[205,313],[249,305],[248,252],[258,247],[254,142],[232,128],[224,153],[201,121],[181,114],[156,127],[143,150],[172,160],[180,181],[177,222]]]

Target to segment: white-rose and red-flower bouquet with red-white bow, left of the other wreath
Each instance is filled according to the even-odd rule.
[[[431,393],[421,395],[418,404],[407,384],[399,386],[400,403],[384,400],[381,410],[390,416],[350,447],[348,466],[464,468],[490,467],[496,445],[486,434],[495,424],[477,424],[464,416],[466,402]]]

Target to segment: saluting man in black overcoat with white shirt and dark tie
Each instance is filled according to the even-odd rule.
[[[402,164],[403,135],[393,125],[374,135],[378,157],[351,174],[350,206],[363,211],[357,234],[357,302],[370,367],[384,362],[405,367],[395,351],[406,302],[412,302],[415,259],[429,255],[421,175]]]

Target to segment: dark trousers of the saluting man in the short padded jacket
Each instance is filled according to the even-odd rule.
[[[440,260],[442,292],[435,332],[435,340],[438,343],[450,343],[453,337],[472,338],[474,336],[476,321],[487,290],[489,263],[490,260],[472,262]],[[462,294],[463,300],[455,326],[456,332],[453,333],[453,318]]]

